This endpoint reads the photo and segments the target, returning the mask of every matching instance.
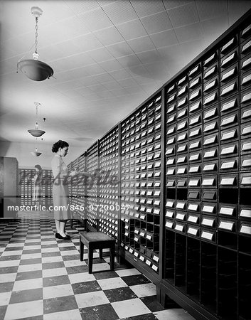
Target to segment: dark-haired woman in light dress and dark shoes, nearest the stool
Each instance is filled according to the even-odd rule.
[[[54,176],[53,184],[53,207],[55,226],[57,233],[55,238],[69,239],[70,236],[65,233],[65,224],[68,219],[72,219],[69,204],[68,177],[75,176],[78,171],[72,171],[68,174],[68,168],[63,161],[63,157],[68,154],[69,144],[63,140],[55,142],[52,147],[55,156],[51,161],[51,168]]]

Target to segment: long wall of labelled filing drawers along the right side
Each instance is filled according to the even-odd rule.
[[[251,319],[250,16],[85,152],[119,182],[87,191],[88,224],[196,319]]]

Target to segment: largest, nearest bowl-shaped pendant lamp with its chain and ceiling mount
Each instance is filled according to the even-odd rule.
[[[35,17],[36,32],[35,32],[35,52],[33,53],[33,60],[19,60],[17,69],[21,70],[29,79],[34,81],[43,81],[49,79],[53,75],[53,69],[50,65],[38,60],[38,18],[42,15],[43,11],[38,6],[31,8],[31,14]]]

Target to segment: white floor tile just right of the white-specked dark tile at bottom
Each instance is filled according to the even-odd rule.
[[[141,302],[140,299],[112,302],[112,306],[119,318],[129,318],[129,316],[139,316],[139,314],[151,313],[151,311],[143,302]]]

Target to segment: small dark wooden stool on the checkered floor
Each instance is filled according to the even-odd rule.
[[[89,273],[92,273],[93,250],[100,250],[102,259],[102,249],[110,248],[110,267],[114,270],[115,239],[102,232],[80,233],[80,261],[83,261],[84,247],[88,250]]]

